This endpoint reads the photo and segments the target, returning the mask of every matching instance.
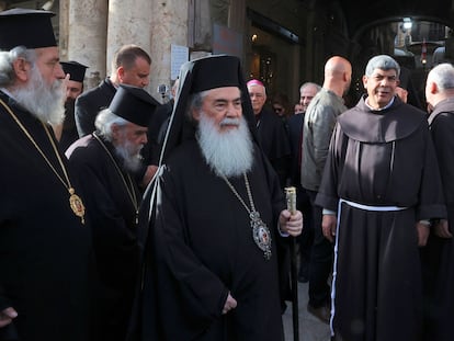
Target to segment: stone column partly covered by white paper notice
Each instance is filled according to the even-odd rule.
[[[150,1],[150,0],[144,0]],[[170,88],[171,45],[188,46],[189,2],[181,0],[152,0],[151,36],[151,94],[157,96],[159,84]]]

